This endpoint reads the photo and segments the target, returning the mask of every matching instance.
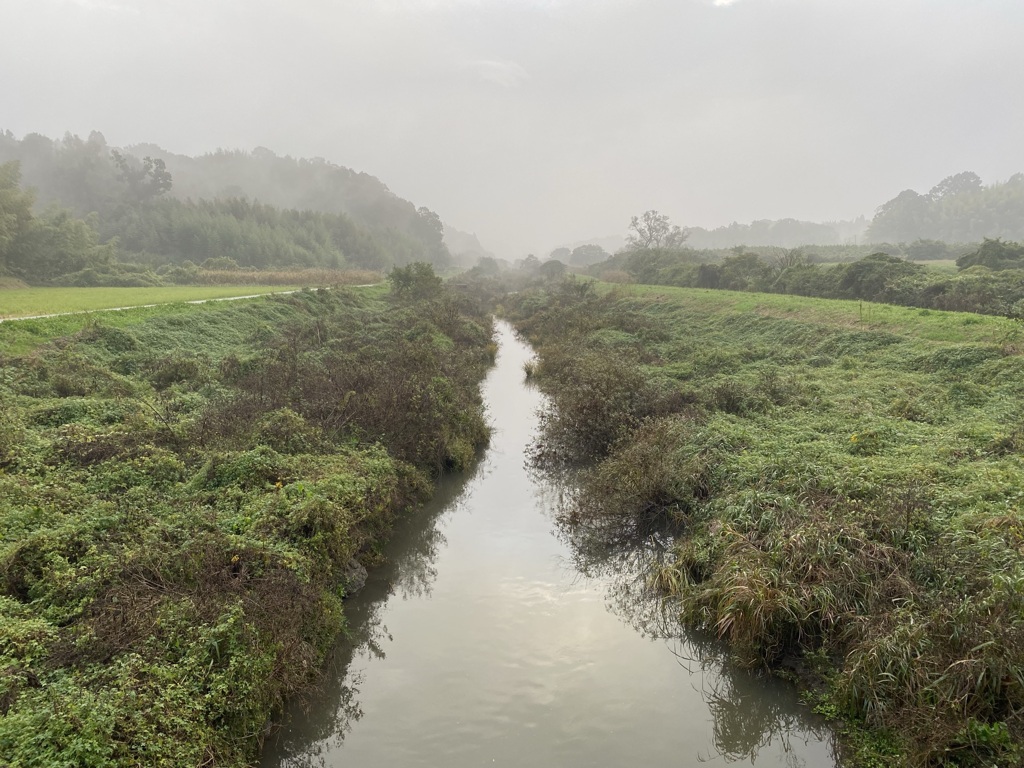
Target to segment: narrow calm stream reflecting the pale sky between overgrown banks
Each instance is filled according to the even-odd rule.
[[[835,765],[792,688],[723,666],[713,642],[652,633],[625,565],[580,572],[555,534],[558,489],[525,466],[530,351],[500,332],[486,456],[395,531],[323,691],[263,766]]]

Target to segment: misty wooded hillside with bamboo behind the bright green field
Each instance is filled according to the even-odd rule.
[[[377,270],[451,261],[435,213],[324,160],[267,150],[186,158],[118,151],[96,132],[7,132],[0,167],[0,270],[28,283],[74,284],[89,270],[93,284],[148,285],[208,259]]]

